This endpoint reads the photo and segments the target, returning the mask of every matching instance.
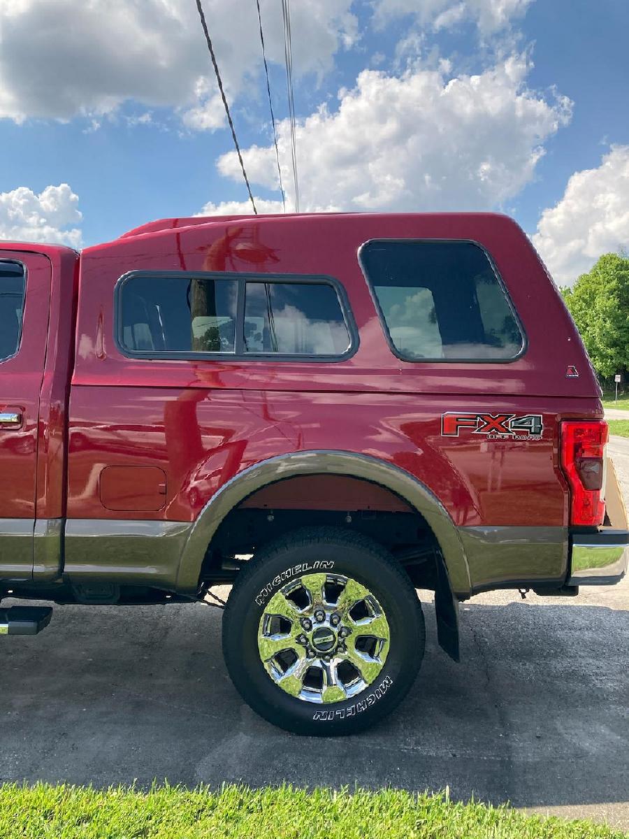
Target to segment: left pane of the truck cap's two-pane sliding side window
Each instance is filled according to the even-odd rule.
[[[131,352],[235,352],[233,279],[130,277],[122,285],[119,338]]]

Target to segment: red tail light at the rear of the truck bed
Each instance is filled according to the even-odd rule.
[[[571,490],[570,524],[603,524],[608,433],[603,420],[569,420],[561,424],[561,466]]]

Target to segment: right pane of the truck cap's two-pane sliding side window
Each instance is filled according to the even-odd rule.
[[[247,283],[245,352],[339,356],[350,347],[335,289],[325,283]]]

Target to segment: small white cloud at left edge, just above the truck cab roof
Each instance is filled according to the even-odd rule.
[[[26,186],[0,193],[0,239],[56,242],[81,247],[79,196],[67,184],[47,186],[37,195]]]

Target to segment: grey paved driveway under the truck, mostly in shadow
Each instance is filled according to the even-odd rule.
[[[629,497],[629,447],[623,456],[627,441],[613,442]],[[325,741],[280,732],[242,704],[221,660],[220,612],[58,607],[37,638],[3,643],[0,779],[449,784],[453,798],[629,829],[629,580],[575,600],[476,597],[462,607],[458,665],[425,609],[426,658],[400,710]]]

